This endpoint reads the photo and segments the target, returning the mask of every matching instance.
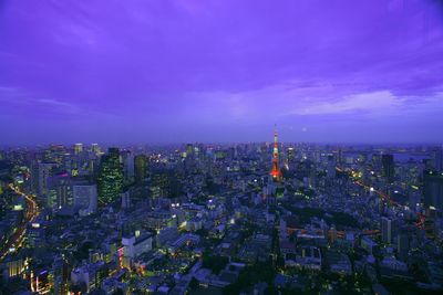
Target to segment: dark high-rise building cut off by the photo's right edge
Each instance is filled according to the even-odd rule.
[[[443,172],[424,171],[423,179],[425,208],[443,210]]]

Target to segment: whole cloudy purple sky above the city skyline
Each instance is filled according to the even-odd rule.
[[[0,143],[442,143],[426,0],[0,1]]]

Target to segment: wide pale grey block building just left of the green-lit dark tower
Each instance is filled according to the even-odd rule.
[[[89,215],[95,212],[97,207],[96,185],[74,185],[72,187],[74,207],[81,215]]]

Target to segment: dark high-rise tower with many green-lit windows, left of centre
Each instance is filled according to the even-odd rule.
[[[109,203],[115,201],[123,190],[123,165],[119,148],[110,148],[102,157],[97,178],[99,201]]]

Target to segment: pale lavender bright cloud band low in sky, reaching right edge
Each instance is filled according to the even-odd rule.
[[[287,81],[245,92],[193,92],[185,95],[187,103],[179,109],[183,114],[193,113],[193,122],[255,124],[267,118],[274,124],[296,116],[322,116],[328,122],[349,119],[349,116],[353,122],[382,120],[392,116],[424,116],[439,104],[443,107],[443,92],[424,97],[395,94],[393,89],[346,89],[337,84]]]

